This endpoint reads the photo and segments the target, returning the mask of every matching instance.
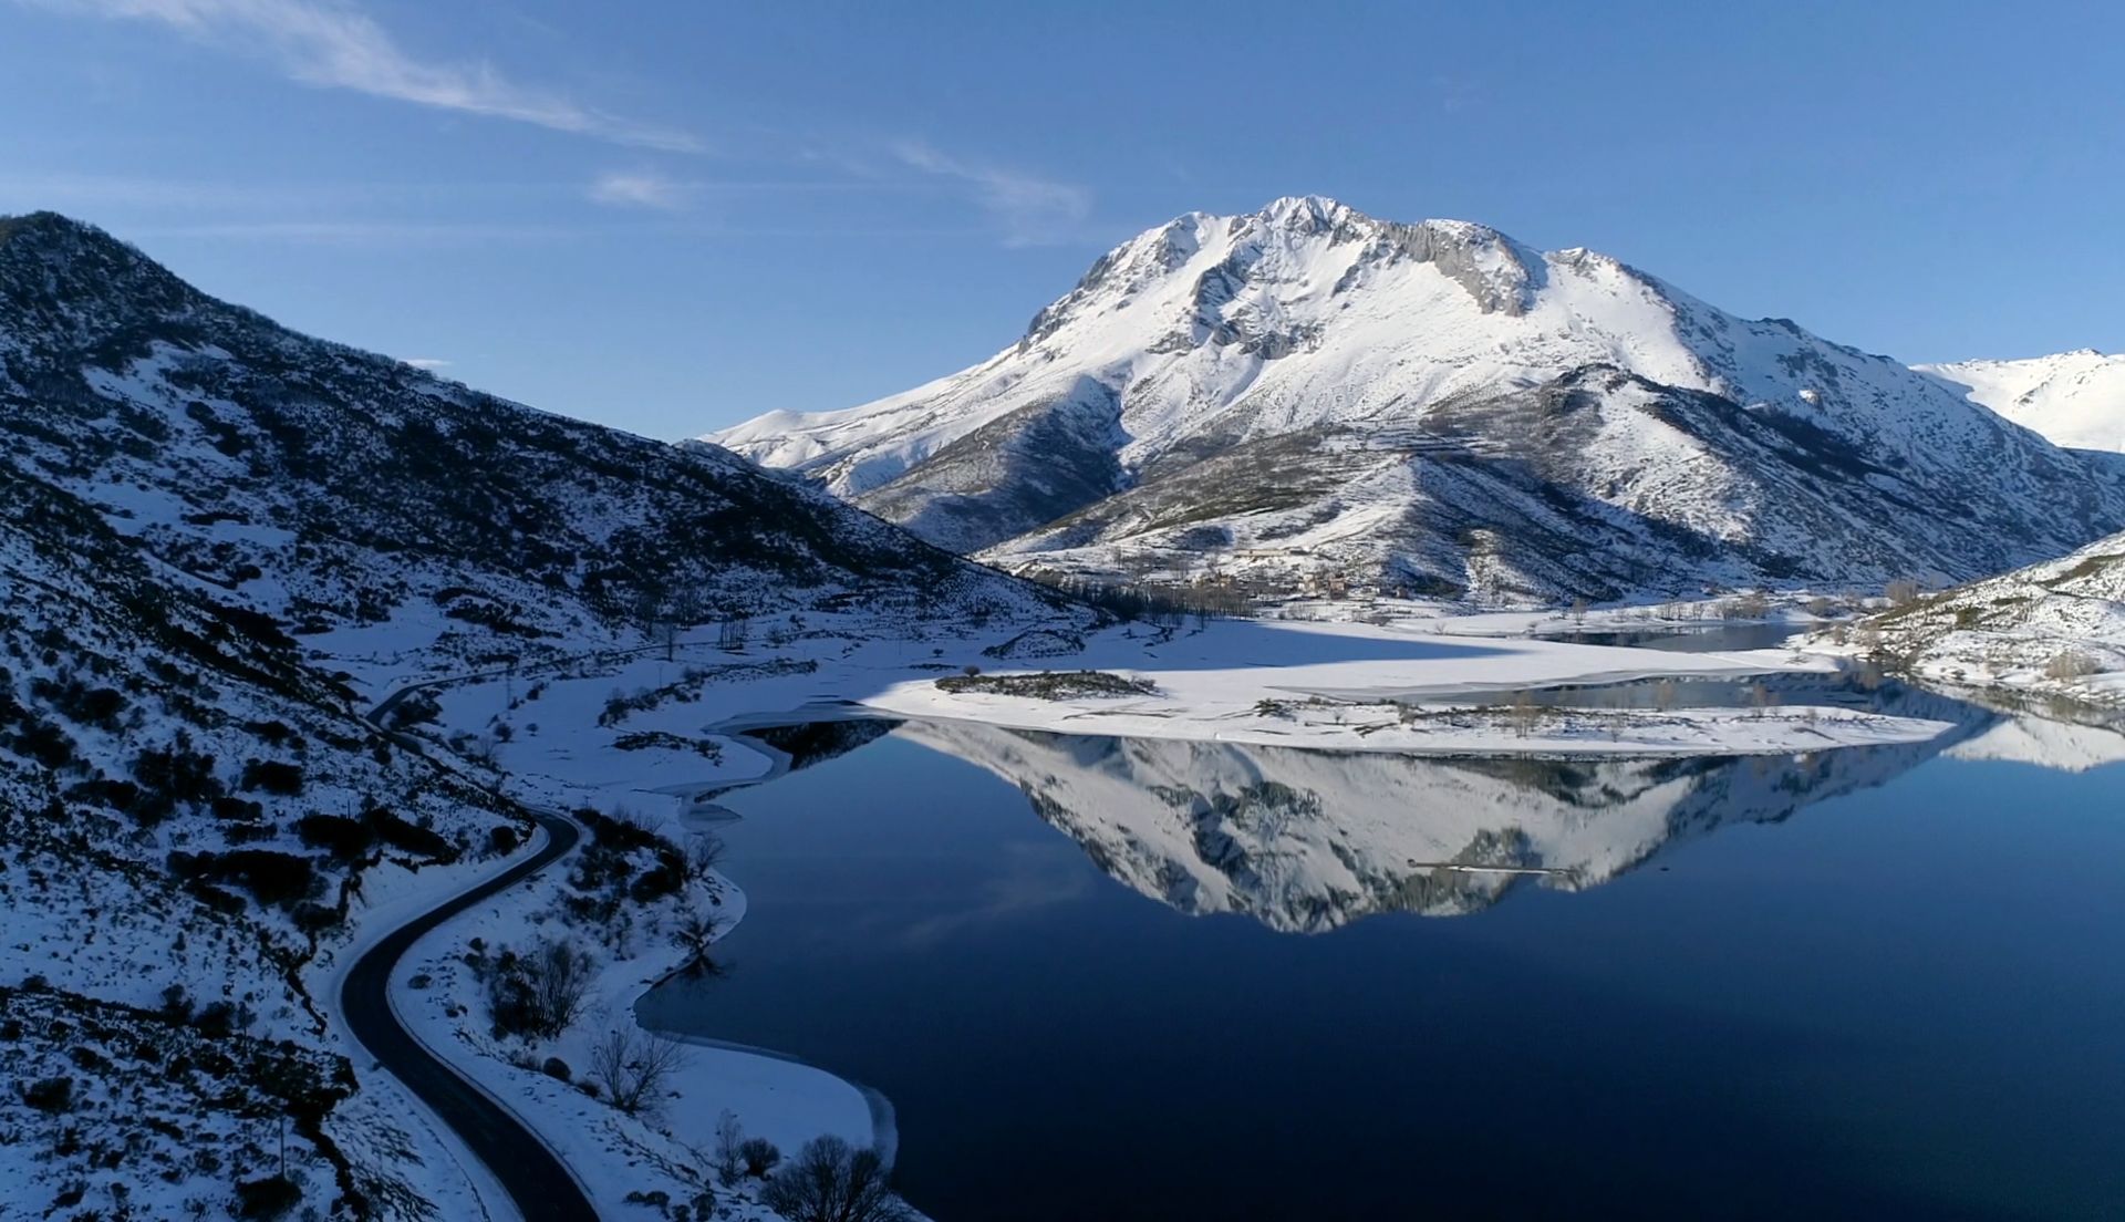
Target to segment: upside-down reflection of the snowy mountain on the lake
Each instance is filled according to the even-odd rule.
[[[1885,699],[1959,729],[1808,757],[1621,761],[1415,759],[980,723],[910,720],[897,733],[1016,784],[1143,895],[1311,933],[1379,912],[1477,912],[1515,886],[1598,886],[1692,835],[1883,784],[1995,720],[1919,691]]]

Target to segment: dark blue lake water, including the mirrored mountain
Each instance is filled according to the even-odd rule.
[[[2125,1216],[2125,767],[912,733],[722,797],[644,1018],[884,1090],[941,1222]]]

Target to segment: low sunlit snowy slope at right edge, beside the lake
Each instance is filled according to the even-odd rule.
[[[1930,680],[2125,703],[2125,533],[1840,633]]]

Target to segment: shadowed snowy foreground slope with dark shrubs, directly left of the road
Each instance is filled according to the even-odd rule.
[[[393,1196],[438,1152],[361,1090],[302,965],[366,873],[442,871],[521,818],[76,497],[0,463],[0,502],[8,1201],[178,1218]]]

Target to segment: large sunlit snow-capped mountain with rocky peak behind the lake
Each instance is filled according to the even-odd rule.
[[[1887,357],[1320,198],[1179,217],[971,370],[714,440],[1003,565],[1264,593],[1970,578],[2125,525],[2125,470]]]

